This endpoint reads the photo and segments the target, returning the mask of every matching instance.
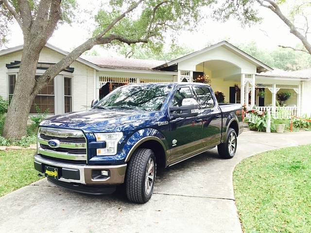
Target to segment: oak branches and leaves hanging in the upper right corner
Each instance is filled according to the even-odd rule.
[[[281,10],[282,6],[289,8],[288,14]],[[279,17],[289,28],[290,33],[294,34],[302,43],[303,48],[292,48],[293,50],[304,51],[311,54],[311,43],[308,40],[311,23],[311,2],[305,0],[225,0],[223,4],[215,10],[215,17],[228,20],[230,17],[238,18],[243,24],[260,22],[262,17],[258,7],[269,9]]]

